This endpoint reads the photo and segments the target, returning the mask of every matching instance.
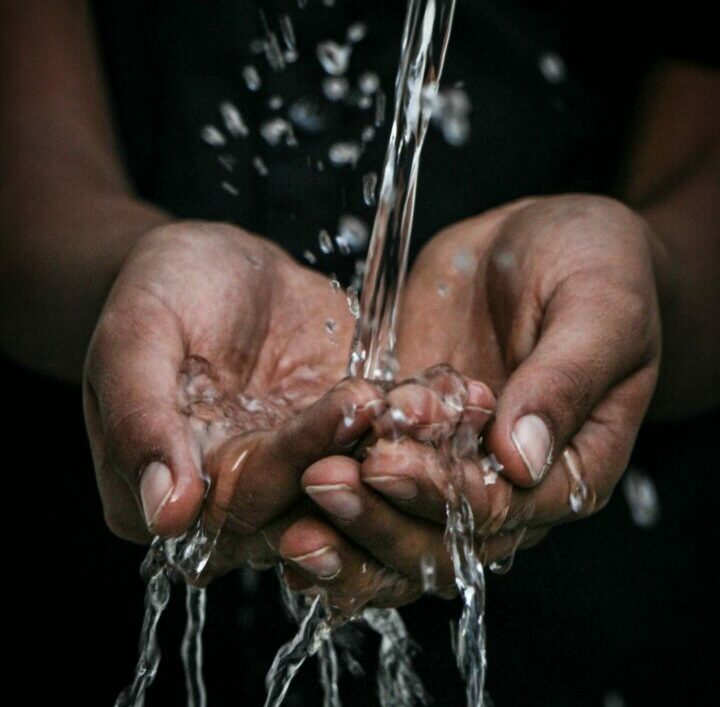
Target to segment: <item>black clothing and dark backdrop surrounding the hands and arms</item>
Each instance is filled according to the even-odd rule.
[[[294,12],[301,55],[365,18],[370,31],[351,75],[372,68],[391,93],[404,3],[337,4]],[[706,23],[693,7],[683,8],[680,20],[653,10],[636,21],[619,3],[591,10],[561,2],[461,2],[445,85],[465,83],[473,103],[471,140],[452,148],[431,131],[416,242],[519,196],[612,193],[647,67],[659,58],[710,58]],[[278,93],[289,103],[317,92],[320,69],[301,60],[296,73],[271,75],[254,60],[265,84],[260,96],[244,90],[240,70],[250,60],[248,41],[259,32],[256,3],[117,0],[98,3],[97,12],[118,133],[143,197],[178,217],[239,223],[296,255],[308,247],[317,253],[317,231],[332,229],[340,213],[371,220],[360,176],[379,170],[382,132],[355,171],[329,176],[308,170],[305,152],[272,150],[257,137],[255,128],[268,115],[264,100]],[[537,59],[547,51],[567,66],[559,85],[538,71]],[[216,154],[198,137],[202,125],[219,124],[217,105],[226,99],[253,128],[235,148],[243,188],[235,199],[219,188],[225,176]],[[329,142],[359,134],[367,122],[339,108],[327,119],[326,133],[302,136],[303,150],[324,154]],[[251,168],[257,154],[270,168],[267,180]],[[332,258],[318,267],[349,269]],[[1,364],[10,420],[6,623],[17,622],[7,646],[30,667],[22,688],[27,701],[110,705],[136,658],[144,551],[113,538],[103,523],[79,389]],[[558,528],[521,553],[508,576],[489,578],[488,687],[497,707],[602,706],[612,692],[627,707],[715,704],[709,689],[717,658],[719,417],[643,430],[633,464],[658,488],[662,515],[655,528],[635,526],[618,492],[598,516]],[[292,633],[275,586],[272,573],[248,572],[211,586],[205,672],[212,707],[262,704],[264,673]],[[166,656],[151,707],[183,704],[181,604],[178,587],[162,623]],[[449,647],[448,626],[458,611],[455,602],[433,599],[403,611],[421,647],[419,672],[443,707],[464,703]],[[366,653],[371,665],[372,641]],[[313,671],[304,671],[288,705],[320,704]],[[348,705],[372,704],[373,692],[372,677],[346,681]]]

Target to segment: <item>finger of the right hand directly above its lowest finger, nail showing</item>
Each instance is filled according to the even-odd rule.
[[[348,457],[328,457],[302,477],[305,492],[340,529],[380,564],[421,582],[420,558],[435,557],[438,582],[452,583],[444,527],[412,518],[362,483],[360,465]]]

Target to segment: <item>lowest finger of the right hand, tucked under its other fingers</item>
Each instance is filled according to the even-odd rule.
[[[346,615],[370,603],[407,603],[421,593],[319,517],[305,516],[291,525],[279,547],[295,573],[290,575],[290,588],[300,588],[299,577],[300,582],[326,591],[331,605]]]

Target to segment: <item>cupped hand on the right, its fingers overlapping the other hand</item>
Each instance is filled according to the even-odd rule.
[[[608,501],[657,378],[658,250],[645,222],[626,207],[570,195],[464,221],[420,254],[401,316],[403,372],[445,362],[498,394],[484,445],[504,466],[504,479],[486,486],[482,474],[465,474],[476,526],[490,538],[485,561]],[[494,404],[481,384],[470,389],[477,407]],[[396,390],[393,404],[415,422],[413,410],[442,418],[442,407],[428,403],[432,391]],[[444,489],[433,481],[437,459],[421,440],[410,431],[399,442],[380,440],[362,464],[331,457],[305,472],[303,486],[312,487],[309,495],[334,527],[300,521],[283,536],[281,554],[330,546],[344,569],[318,581],[293,566],[294,586],[319,584],[331,596],[349,597],[385,566],[402,581],[376,602],[404,603],[420,593],[426,553],[436,557],[439,586],[452,586],[442,540]],[[345,510],[354,508],[351,519],[337,513],[339,499]]]

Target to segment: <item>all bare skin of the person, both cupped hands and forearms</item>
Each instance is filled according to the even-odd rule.
[[[446,593],[434,431],[466,425],[504,465],[485,485],[482,457],[464,461],[491,560],[577,517],[575,477],[587,485],[580,515],[607,501],[661,348],[652,414],[690,418],[720,400],[717,71],[673,62],[650,76],[621,192],[634,211],[565,195],[438,234],[401,314],[401,378],[425,373],[379,391],[341,383],[352,321],[326,278],[242,229],[173,223],[132,193],[85,3],[0,0],[0,31],[0,346],[46,374],[84,376],[114,532],[145,542],[148,527],[174,535],[201,512],[224,527],[203,581],[281,556],[289,583],[324,586],[350,611],[357,597],[415,598],[430,549]],[[468,387],[459,416],[443,402],[458,374],[426,370],[441,362]],[[238,395],[270,412],[249,413]],[[545,425],[548,455],[515,446],[526,414],[526,431]],[[330,508],[338,491],[344,515],[359,515]]]

